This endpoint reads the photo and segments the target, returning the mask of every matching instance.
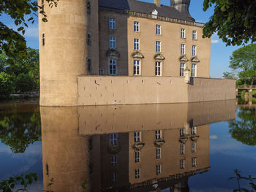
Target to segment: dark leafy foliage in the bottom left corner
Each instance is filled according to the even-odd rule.
[[[0,191],[12,192],[15,185],[21,185],[23,188],[18,188],[15,191],[27,191],[26,188],[29,187],[34,181],[38,181],[37,173],[20,174],[15,177],[10,177],[7,180],[0,182]]]

